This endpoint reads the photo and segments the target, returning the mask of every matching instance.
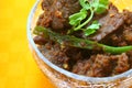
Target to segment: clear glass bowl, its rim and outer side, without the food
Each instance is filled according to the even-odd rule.
[[[42,13],[41,1],[34,4],[28,20],[28,40],[31,52],[43,74],[56,88],[129,88],[132,87],[132,69],[112,77],[87,77],[67,72],[51,63],[37,48],[33,41],[32,30]]]

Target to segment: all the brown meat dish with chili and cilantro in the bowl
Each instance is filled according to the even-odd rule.
[[[132,12],[108,0],[43,0],[42,9],[34,42],[58,67],[89,77],[132,68]]]

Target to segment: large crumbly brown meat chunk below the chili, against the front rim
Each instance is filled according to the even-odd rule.
[[[130,68],[127,54],[92,55],[89,59],[78,61],[73,73],[90,77],[107,77],[121,74]]]

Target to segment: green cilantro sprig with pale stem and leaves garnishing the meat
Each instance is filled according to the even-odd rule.
[[[82,30],[84,34],[88,36],[94,34],[99,29],[100,24],[94,22],[87,29],[85,29],[85,25],[92,20],[95,13],[101,14],[108,9],[109,0],[79,0],[79,3],[82,9],[78,13],[69,16],[69,24],[73,25],[73,28],[68,31],[68,34],[72,34],[74,31]]]

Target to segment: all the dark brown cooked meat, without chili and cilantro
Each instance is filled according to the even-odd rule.
[[[68,16],[78,12],[80,6],[78,0],[43,0],[42,9],[45,12],[40,15],[37,25],[63,33],[70,28]],[[91,38],[95,40],[99,35],[102,36],[96,40],[99,43],[111,46],[132,45],[132,12],[124,10],[119,13],[118,9],[112,6],[99,21],[103,21],[102,24],[105,25],[101,26],[101,31],[105,33],[97,33]],[[79,36],[81,37],[81,35]],[[35,36],[34,42],[38,44],[38,50],[52,63],[75,74],[90,77],[109,77],[132,68],[132,51],[112,55],[101,51],[62,46],[56,42],[45,40],[43,36]]]

